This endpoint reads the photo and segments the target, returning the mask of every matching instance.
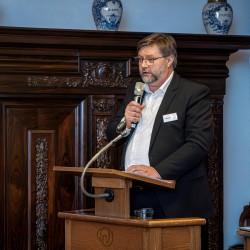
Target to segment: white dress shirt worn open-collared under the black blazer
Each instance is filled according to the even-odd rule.
[[[172,78],[173,73],[154,93],[149,89],[148,85],[145,84],[144,89],[146,93],[143,99],[145,107],[142,110],[140,122],[137,124],[136,130],[131,136],[127,146],[125,155],[125,170],[132,165],[150,166],[148,151],[153,125],[162,99]]]

